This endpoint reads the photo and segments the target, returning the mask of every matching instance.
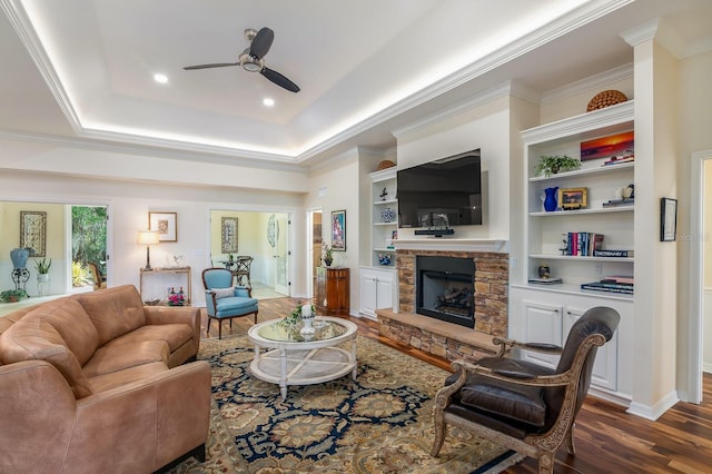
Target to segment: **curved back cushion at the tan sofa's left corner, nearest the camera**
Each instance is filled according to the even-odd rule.
[[[43,359],[62,373],[77,398],[91,395],[81,369],[98,346],[97,329],[73,298],[48,302],[27,313],[0,336],[4,364]]]

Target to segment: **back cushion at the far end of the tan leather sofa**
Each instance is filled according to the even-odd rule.
[[[134,285],[82,293],[77,299],[99,333],[99,345],[146,324],[141,296]]]

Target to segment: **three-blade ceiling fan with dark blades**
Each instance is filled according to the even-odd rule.
[[[267,27],[261,28],[259,31],[248,28],[245,30],[245,37],[249,41],[249,47],[245,48],[240,53],[238,62],[216,62],[212,65],[186,66],[184,69],[190,71],[194,69],[241,66],[246,71],[259,72],[277,86],[284,87],[290,92],[298,92],[300,90],[299,86],[279,72],[265,66],[265,55],[267,55],[269,48],[271,48],[271,42],[275,39],[275,32]]]

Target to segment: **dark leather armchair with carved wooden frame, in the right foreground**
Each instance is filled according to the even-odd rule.
[[[497,357],[476,365],[462,361],[435,396],[437,456],[447,425],[538,460],[540,473],[552,473],[554,454],[566,441],[574,454],[573,426],[591,384],[596,350],[611,340],[620,315],[612,308],[589,309],[571,328],[563,349],[548,344],[525,344],[496,338]],[[555,371],[504,357],[511,348],[561,354]]]

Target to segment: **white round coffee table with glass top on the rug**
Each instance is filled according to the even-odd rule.
[[[260,381],[279,384],[281,399],[287,398],[289,385],[312,385],[333,381],[349,372],[356,379],[356,325],[335,317],[314,318],[314,337],[299,334],[301,324],[291,329],[279,325],[281,319],[268,320],[249,328],[247,335],[255,343],[251,374]],[[350,352],[337,347],[352,342]],[[271,348],[260,354],[260,348]]]

